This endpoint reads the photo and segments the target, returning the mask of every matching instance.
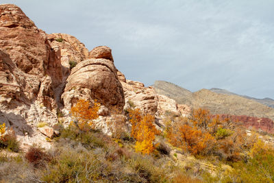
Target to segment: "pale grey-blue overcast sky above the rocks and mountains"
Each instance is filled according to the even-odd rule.
[[[112,49],[127,79],[274,98],[274,1],[17,0],[36,26]]]

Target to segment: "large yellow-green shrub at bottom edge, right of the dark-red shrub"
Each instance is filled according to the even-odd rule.
[[[105,156],[99,151],[60,148],[59,156],[42,173],[45,182],[140,182],[125,172],[119,156]]]

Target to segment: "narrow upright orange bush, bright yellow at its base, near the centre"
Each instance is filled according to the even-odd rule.
[[[129,110],[129,121],[132,123],[131,136],[136,139],[135,150],[142,154],[151,154],[155,147],[155,134],[159,134],[153,124],[154,117],[151,114],[142,115],[139,109]]]

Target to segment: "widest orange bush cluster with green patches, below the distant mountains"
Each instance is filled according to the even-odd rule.
[[[221,158],[240,160],[240,152],[250,148],[252,142],[238,121],[220,119],[208,110],[192,110],[190,118],[171,118],[166,123],[166,137],[175,147],[187,149],[191,154],[218,154]]]

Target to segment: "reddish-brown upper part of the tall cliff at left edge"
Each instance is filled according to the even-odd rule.
[[[51,47],[16,5],[0,5],[0,47],[24,73],[45,75]]]

